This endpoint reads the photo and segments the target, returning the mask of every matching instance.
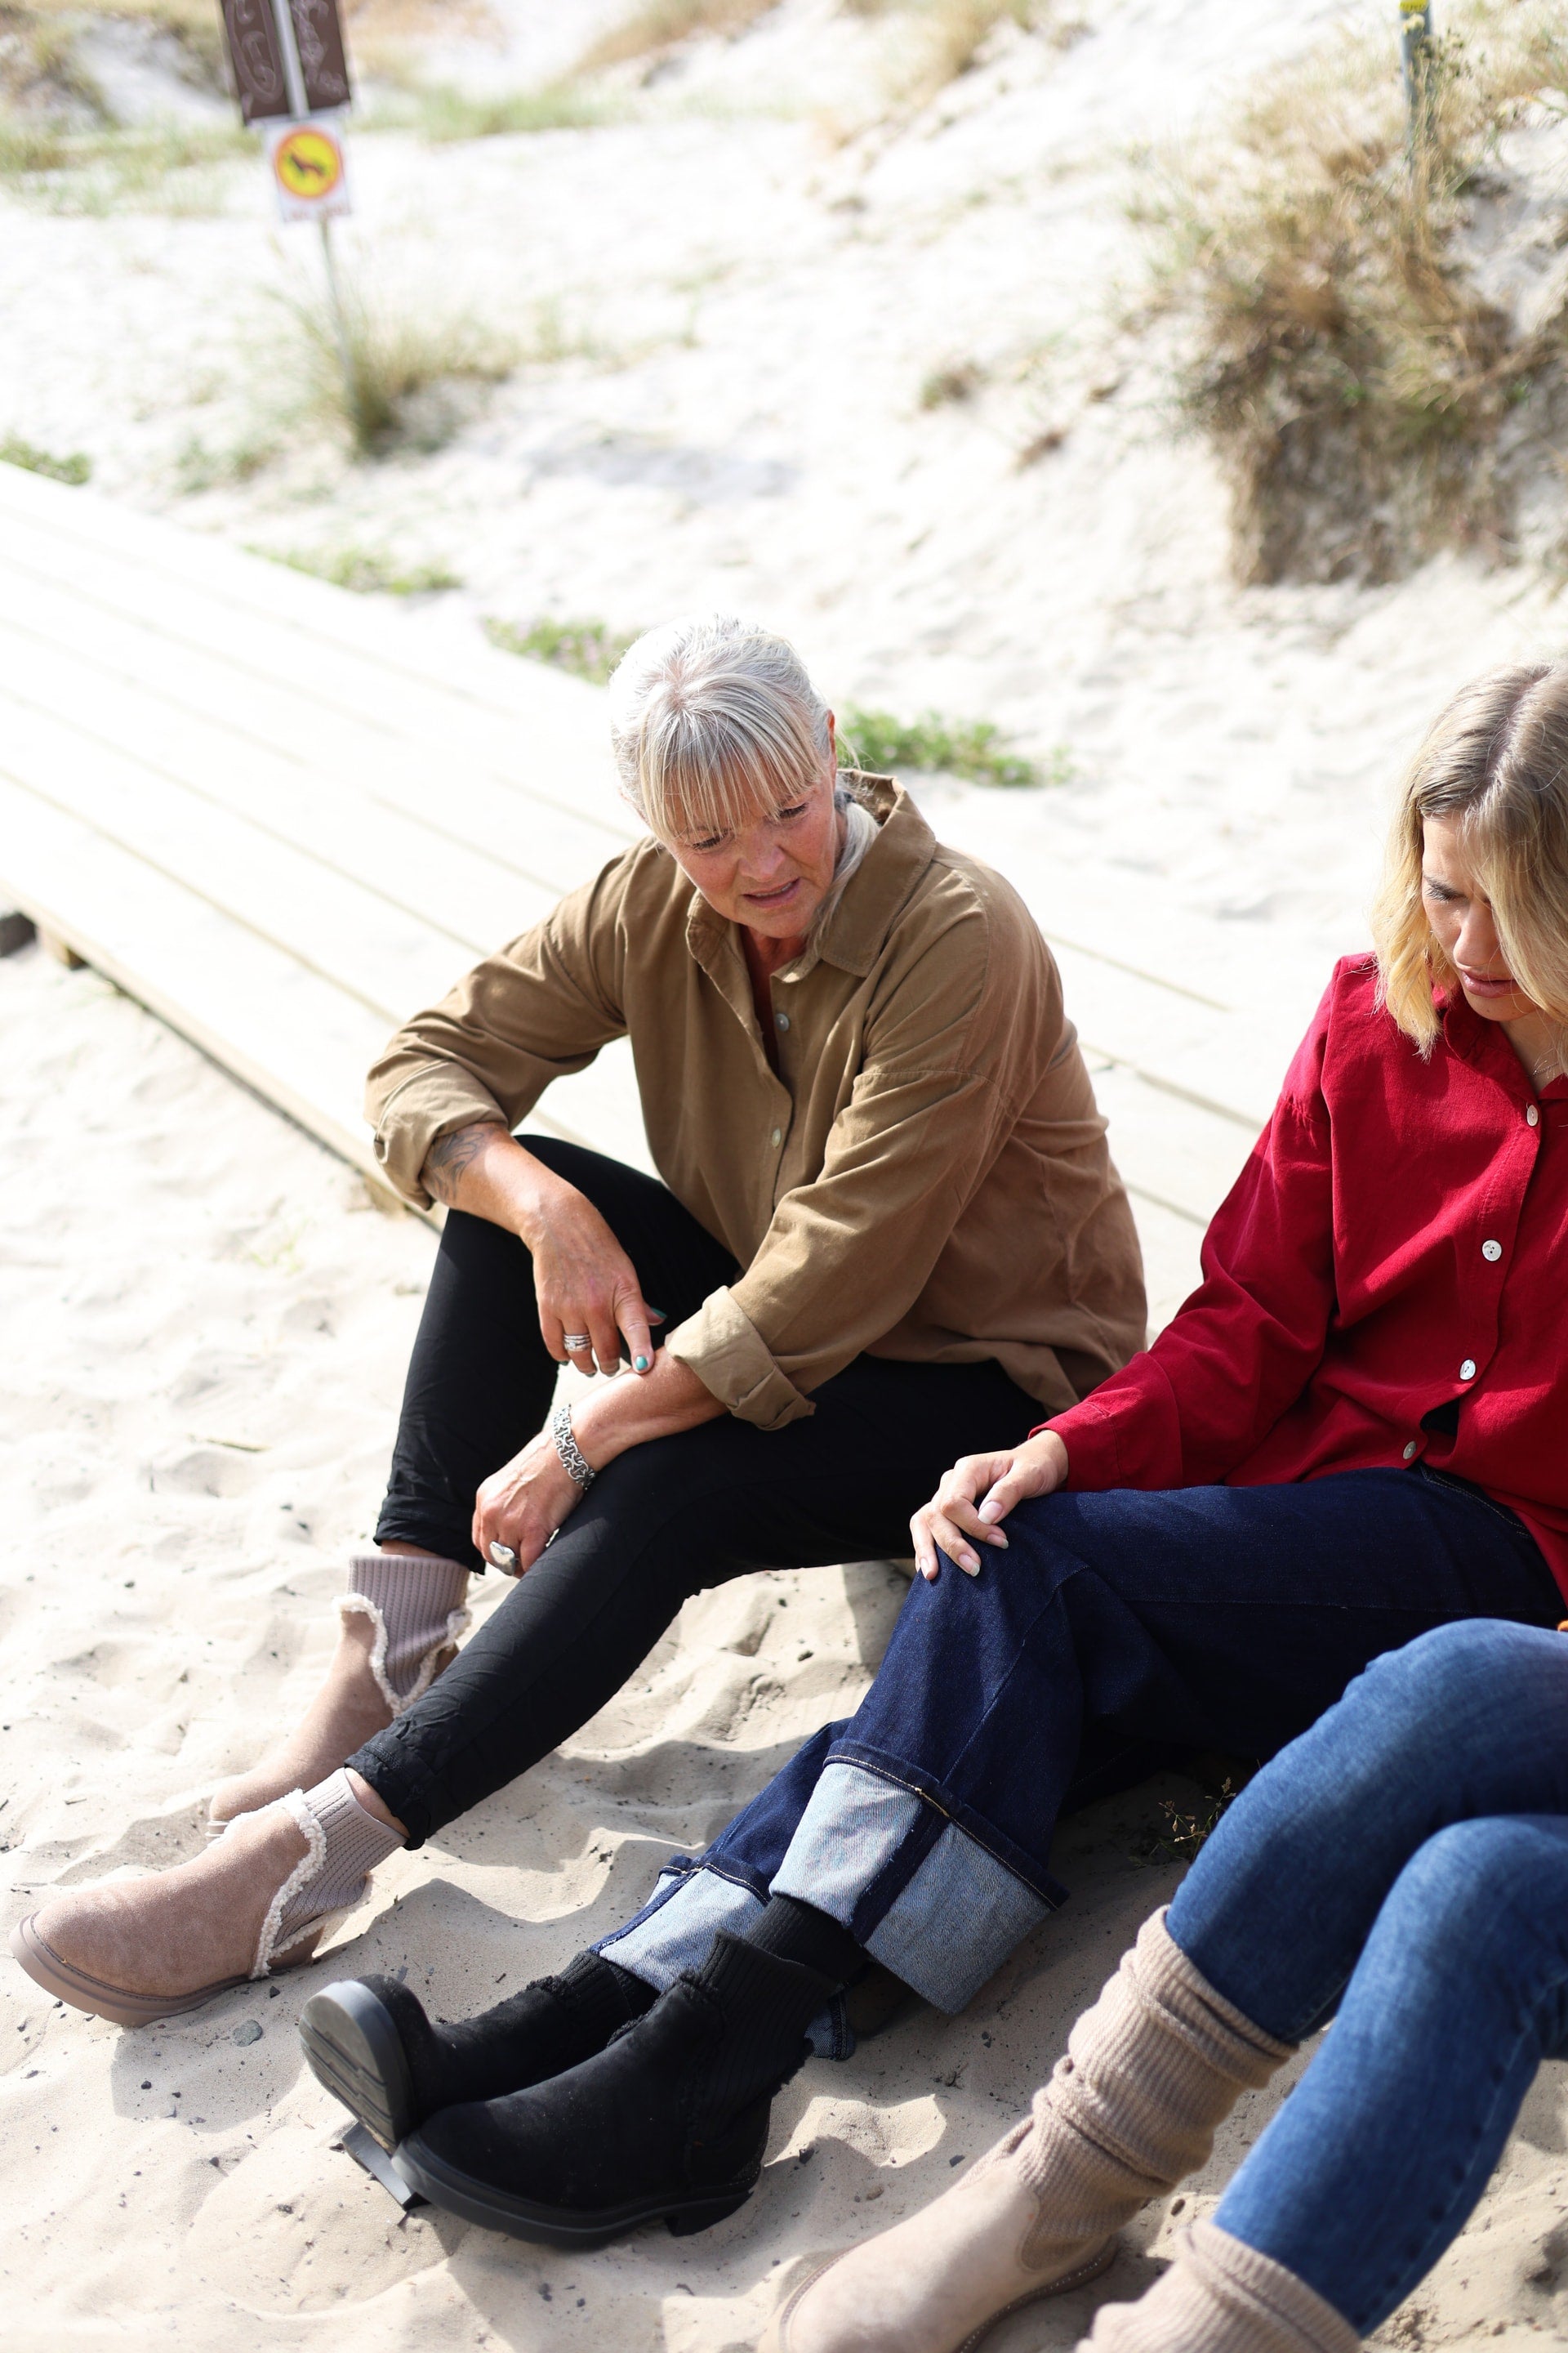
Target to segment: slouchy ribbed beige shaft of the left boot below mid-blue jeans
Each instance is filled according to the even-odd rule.
[[[1058,2264],[1197,2172],[1241,2092],[1265,2085],[1293,2047],[1215,1993],[1164,1911],[1145,1920],[1013,2144],[1039,2198],[1025,2264]]]

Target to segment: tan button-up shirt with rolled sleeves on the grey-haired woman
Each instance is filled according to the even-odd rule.
[[[670,1353],[764,1431],[851,1358],[994,1358],[1048,1412],[1145,1339],[1143,1268],[1063,986],[1001,875],[891,779],[879,833],[773,979],[769,1066],[731,922],[658,842],[416,1014],[369,1075],[376,1153],[425,1205],[425,1153],[531,1111],[630,1033],[654,1165],[741,1261]]]

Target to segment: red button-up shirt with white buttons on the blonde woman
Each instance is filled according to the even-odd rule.
[[[1439,995],[1422,1061],[1335,965],[1274,1115],[1152,1348],[1041,1428],[1067,1485],[1267,1487],[1434,1471],[1483,1487],[1568,1595],[1568,1080]],[[1425,1428],[1441,1417],[1458,1428]]]

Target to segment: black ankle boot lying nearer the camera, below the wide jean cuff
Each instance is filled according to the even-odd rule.
[[[430,2205],[548,2247],[642,2221],[703,2231],[750,2198],[773,2092],[835,1981],[719,1932],[595,2059],[508,2099],[442,2108],[397,2151]]]

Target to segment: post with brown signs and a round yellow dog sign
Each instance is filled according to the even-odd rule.
[[[348,320],[331,252],[331,221],[353,212],[339,115],[353,101],[336,0],[223,0],[223,33],[240,92],[240,115],[259,125],[284,221],[315,221],[331,332],[355,400]]]

